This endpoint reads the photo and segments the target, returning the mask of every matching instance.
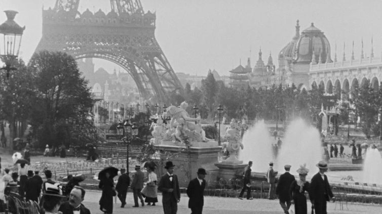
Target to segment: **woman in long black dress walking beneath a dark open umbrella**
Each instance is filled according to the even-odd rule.
[[[102,189],[99,209],[105,214],[111,214],[113,212],[113,195],[116,190],[114,190],[114,181],[110,178],[109,173],[105,173],[105,177],[101,179],[98,187]]]

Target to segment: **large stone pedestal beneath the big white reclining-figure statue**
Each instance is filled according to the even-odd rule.
[[[196,178],[198,168],[204,168],[207,171],[205,178],[207,182],[215,181],[218,176],[219,169],[214,164],[218,162],[221,146],[218,146],[216,141],[193,142],[191,145],[189,149],[186,149],[182,143],[162,141],[162,144],[154,146],[160,150],[163,166],[167,161],[172,161],[175,165],[174,174],[178,176],[180,187],[187,187],[190,179]],[[159,178],[161,176],[158,175]]]

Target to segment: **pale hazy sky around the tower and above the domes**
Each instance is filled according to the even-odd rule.
[[[0,9],[15,10],[16,22],[26,26],[20,56],[28,61],[40,41],[42,8],[54,7],[56,0],[0,0]],[[311,22],[321,29],[331,45],[334,59],[342,59],[343,42],[350,59],[352,41],[359,58],[361,38],[364,52],[370,55],[371,37],[374,55],[382,51],[381,0],[141,0],[145,12],[157,14],[156,38],[175,72],[205,76],[208,69],[221,75],[251,57],[252,66],[261,46],[266,63],[270,51],[277,64],[280,50],[292,39],[296,20],[300,31]],[[109,0],[81,0],[80,12],[89,8],[110,11]],[[0,23],[6,20],[0,14]],[[250,55],[250,50],[251,55]],[[96,69],[111,71],[117,65],[95,60]]]

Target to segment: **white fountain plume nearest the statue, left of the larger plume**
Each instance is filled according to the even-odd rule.
[[[239,154],[243,163],[253,162],[252,170],[266,172],[268,162],[273,161],[272,138],[264,121],[257,122],[243,136],[244,149]]]

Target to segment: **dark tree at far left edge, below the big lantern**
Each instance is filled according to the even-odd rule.
[[[10,152],[13,152],[13,139],[17,132],[15,123],[27,121],[35,96],[33,86],[35,73],[29,71],[21,60],[15,67],[17,70],[11,72],[9,79],[0,78],[0,85],[2,85],[0,88],[0,119],[8,121],[10,124]],[[5,71],[1,70],[0,77],[5,76]],[[19,131],[23,133],[24,130]]]

